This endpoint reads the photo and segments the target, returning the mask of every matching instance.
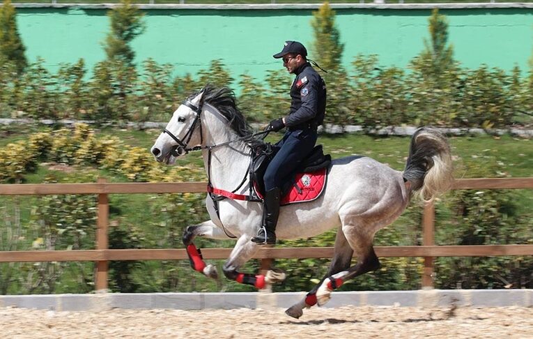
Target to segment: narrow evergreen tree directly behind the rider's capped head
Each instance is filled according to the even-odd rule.
[[[335,27],[335,11],[327,1],[313,13],[313,57],[325,70],[340,67],[344,45],[340,43],[339,29]]]

